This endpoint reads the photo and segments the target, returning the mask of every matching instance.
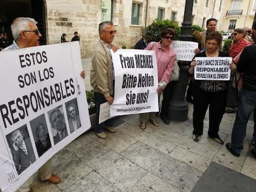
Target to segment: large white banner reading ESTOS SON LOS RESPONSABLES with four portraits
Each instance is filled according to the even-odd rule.
[[[77,41],[1,51],[0,65],[0,186],[15,191],[90,118]]]

